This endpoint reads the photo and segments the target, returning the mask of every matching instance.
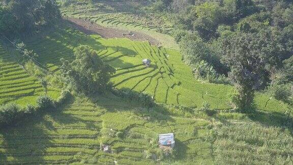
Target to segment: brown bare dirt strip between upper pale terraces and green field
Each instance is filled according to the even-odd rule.
[[[150,44],[160,46],[161,43],[155,38],[136,31],[118,30],[105,28],[96,23],[91,24],[83,19],[69,18],[69,25],[86,34],[99,34],[103,38],[129,38],[130,40],[149,41]]]

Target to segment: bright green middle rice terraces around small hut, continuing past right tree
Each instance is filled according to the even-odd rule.
[[[58,70],[60,58],[73,60],[74,47],[89,45],[102,60],[116,69],[111,78],[115,88],[147,92],[161,103],[201,107],[207,101],[217,109],[230,108],[226,95],[232,87],[195,80],[190,68],[182,62],[182,56],[176,50],[129,39],[86,36],[70,28],[32,38],[26,44],[39,54],[39,61],[51,71]],[[152,61],[149,68],[141,63],[146,58]],[[265,107],[267,99],[268,96],[257,95],[257,106],[268,111],[285,111],[287,108],[276,100],[269,101]]]

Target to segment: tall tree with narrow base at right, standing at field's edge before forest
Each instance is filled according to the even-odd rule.
[[[266,49],[263,44],[267,42],[261,36],[244,33],[237,33],[221,42],[222,61],[231,68],[229,77],[239,91],[240,109],[251,109],[254,91],[265,81],[265,65],[270,64],[275,56],[275,50],[269,44],[266,51],[261,51]]]

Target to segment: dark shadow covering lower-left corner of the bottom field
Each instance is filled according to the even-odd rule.
[[[0,130],[3,136],[1,148],[5,152],[0,153],[0,163],[44,163],[43,153],[46,148],[52,146],[44,128],[50,125],[43,115],[28,117],[16,126],[5,127]],[[11,158],[8,159],[8,156]]]

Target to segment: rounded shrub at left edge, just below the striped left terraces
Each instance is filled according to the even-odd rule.
[[[17,104],[0,106],[0,126],[10,125],[22,115],[21,108]]]

